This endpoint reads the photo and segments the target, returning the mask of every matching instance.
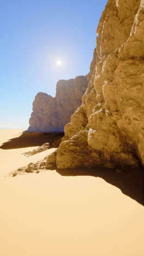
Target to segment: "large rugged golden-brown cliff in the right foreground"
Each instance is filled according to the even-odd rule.
[[[89,85],[64,128],[57,168],[144,165],[143,31],[143,0],[107,2]]]

